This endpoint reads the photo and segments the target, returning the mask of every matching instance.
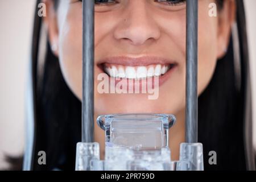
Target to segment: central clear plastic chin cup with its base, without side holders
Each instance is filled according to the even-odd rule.
[[[98,117],[105,130],[104,169],[166,170],[170,168],[168,129],[176,119],[171,114],[115,114]]]

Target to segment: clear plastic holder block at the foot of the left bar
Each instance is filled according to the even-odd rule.
[[[92,161],[100,160],[100,146],[98,143],[77,143],[76,171],[90,171]]]

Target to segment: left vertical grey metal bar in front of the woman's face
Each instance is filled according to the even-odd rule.
[[[94,0],[82,1],[82,142],[94,137]]]

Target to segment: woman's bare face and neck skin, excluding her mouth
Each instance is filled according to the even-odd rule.
[[[82,3],[61,0],[56,11],[52,0],[44,1],[53,53],[59,57],[61,71],[72,92],[82,96]],[[207,88],[217,60],[225,55],[236,5],[225,0],[217,17],[208,14],[214,0],[199,0],[198,95]],[[102,70],[98,61],[107,56],[160,56],[175,60],[177,67],[159,87],[159,98],[144,94],[100,94],[94,85],[95,118],[117,113],[170,113],[177,118],[170,129],[172,159],[179,159],[179,144],[185,139],[185,4],[170,6],[153,0],[122,0],[116,5],[95,7],[95,75]],[[134,101],[136,105],[134,105]],[[104,156],[105,134],[95,128],[95,140]]]

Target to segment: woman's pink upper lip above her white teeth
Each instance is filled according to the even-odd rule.
[[[120,64],[130,67],[139,67],[139,66],[147,66],[151,64],[176,64],[175,61],[170,59],[165,59],[163,57],[158,56],[141,56],[141,57],[129,57],[129,56],[114,56],[114,57],[106,57],[98,61],[98,65],[100,64]]]

